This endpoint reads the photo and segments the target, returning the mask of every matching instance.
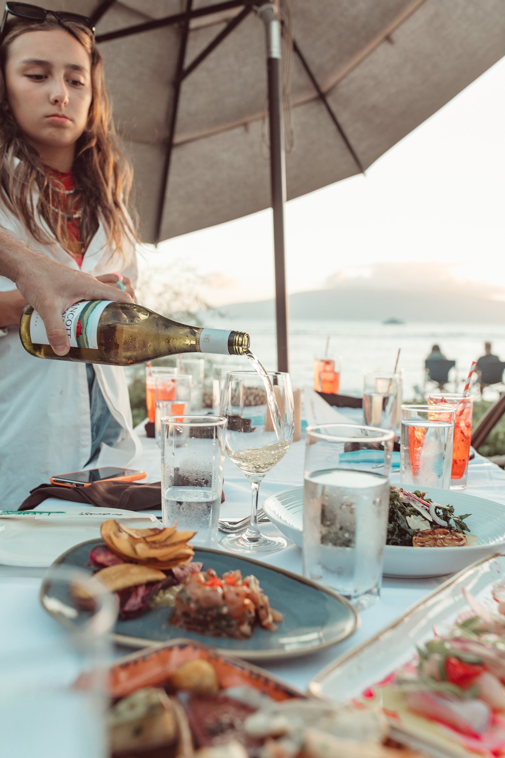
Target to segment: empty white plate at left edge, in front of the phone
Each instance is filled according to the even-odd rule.
[[[159,523],[151,513],[111,508],[58,508],[51,511],[0,511],[0,564],[50,566],[70,547],[100,537],[101,522],[109,518],[127,520],[132,528],[149,528]],[[160,524],[161,526],[161,524]]]

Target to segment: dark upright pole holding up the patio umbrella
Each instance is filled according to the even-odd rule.
[[[270,186],[273,210],[273,251],[276,274],[277,368],[288,371],[288,298],[284,253],[285,161],[282,143],[281,30],[276,8],[267,2],[256,9],[267,33],[270,127]]]

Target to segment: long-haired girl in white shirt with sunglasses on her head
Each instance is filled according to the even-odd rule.
[[[117,146],[94,29],[86,17],[8,3],[0,33],[0,227],[30,248],[134,296],[131,172]],[[2,508],[91,461],[139,451],[123,369],[34,360],[26,305],[0,277]]]

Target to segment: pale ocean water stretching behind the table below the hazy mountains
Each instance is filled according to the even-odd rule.
[[[233,321],[217,315],[203,318],[207,327],[245,330],[251,335],[251,349],[265,368],[276,370],[276,330],[270,320]],[[438,343],[447,359],[456,361],[458,389],[468,376],[472,360],[484,354],[484,342],[493,343],[493,352],[505,360],[505,327],[500,324],[432,324],[413,321],[382,324],[378,321],[300,321],[289,325],[289,369],[296,387],[313,382],[313,359],[323,356],[326,337],[331,337],[329,353],[341,356],[340,392],[363,393],[363,374],[374,369],[394,368],[401,348],[400,368],[404,369],[404,399],[411,400],[415,387],[422,388],[424,361],[433,344]],[[433,389],[434,384],[429,388]],[[454,391],[454,385],[447,389]],[[485,397],[492,399],[493,390]]]

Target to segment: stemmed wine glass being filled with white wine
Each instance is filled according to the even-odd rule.
[[[289,374],[267,371],[261,377],[256,371],[229,371],[220,414],[228,421],[226,453],[244,472],[252,489],[248,528],[242,534],[228,534],[220,542],[237,553],[282,550],[287,545],[284,537],[261,534],[257,501],[264,475],[285,456],[293,441],[295,409]]]

